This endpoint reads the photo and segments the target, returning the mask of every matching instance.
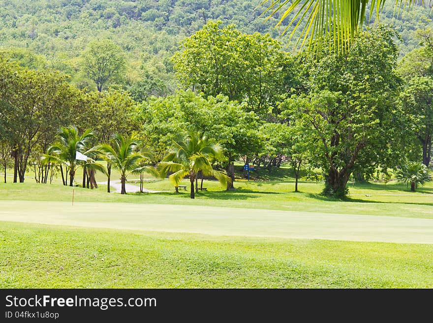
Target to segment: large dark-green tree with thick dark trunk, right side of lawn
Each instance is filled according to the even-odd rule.
[[[290,123],[309,129],[305,135],[316,143],[309,159],[326,173],[324,193],[343,197],[353,172],[398,164],[396,151],[410,131],[394,102],[398,50],[391,30],[360,33],[344,55],[326,51],[307,63],[308,94],[292,96],[282,109]]]

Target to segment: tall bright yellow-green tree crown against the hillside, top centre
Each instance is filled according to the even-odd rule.
[[[266,116],[284,92],[287,56],[269,35],[247,35],[221,24],[209,22],[186,38],[183,51],[173,57],[176,76],[205,97],[246,101],[249,110]]]

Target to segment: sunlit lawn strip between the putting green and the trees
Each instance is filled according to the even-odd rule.
[[[226,192],[218,182],[205,181],[204,186],[208,191],[199,192],[195,200],[189,199],[189,182],[184,181],[183,184],[187,185],[188,191],[181,190],[179,194],[174,193],[168,180],[146,183],[145,187],[148,189],[167,191],[157,194],[108,194],[105,185],[96,190],[75,188],[74,199],[76,202],[179,204],[433,218],[432,183],[415,193],[397,183],[388,183],[386,190],[382,184],[357,184],[350,187],[351,195],[346,201],[322,197],[319,193],[323,184],[315,182],[301,182],[301,192],[294,193],[293,182],[237,181],[237,189]],[[72,188],[59,183],[0,183],[0,200],[66,202],[71,199]]]

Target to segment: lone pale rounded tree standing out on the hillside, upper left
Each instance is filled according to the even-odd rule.
[[[83,72],[96,83],[99,92],[107,83],[121,78],[125,73],[122,48],[109,39],[90,42],[82,54],[82,60]]]

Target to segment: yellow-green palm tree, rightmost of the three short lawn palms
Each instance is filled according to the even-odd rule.
[[[191,199],[195,198],[194,180],[201,172],[204,176],[214,176],[222,185],[226,185],[230,178],[223,172],[212,168],[212,160],[221,154],[221,147],[209,140],[203,132],[190,132],[183,141],[175,142],[172,151],[159,163],[162,177],[169,176],[171,182],[178,187],[186,176],[191,183]]]

